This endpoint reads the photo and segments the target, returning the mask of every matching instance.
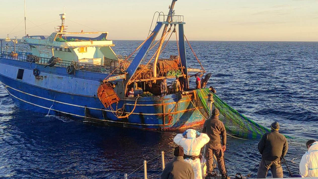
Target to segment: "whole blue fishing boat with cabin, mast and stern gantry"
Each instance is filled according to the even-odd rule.
[[[184,35],[183,16],[175,15],[175,3],[168,15],[157,13],[148,37],[126,56],[115,54],[108,32],[66,32],[66,14],[60,14],[61,25],[50,36],[22,38],[21,43],[30,48],[12,52],[1,48],[0,81],[24,110],[146,130],[201,125],[208,111],[200,101],[214,89],[190,88],[190,79],[195,81],[195,74],[203,77],[206,72],[202,65],[189,67],[185,47],[193,49]],[[176,36],[178,51],[162,58],[168,36]],[[156,52],[150,54],[153,48]],[[162,80],[176,76],[182,90],[168,89],[161,96]],[[202,78],[202,86],[210,76]],[[134,97],[127,96],[130,88],[135,89]]]

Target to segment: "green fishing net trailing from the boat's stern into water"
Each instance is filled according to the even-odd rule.
[[[209,114],[210,110],[207,105],[206,96],[212,92],[207,88],[197,89],[195,92],[200,99],[197,101],[202,103],[200,106],[204,108],[205,114]],[[220,111],[219,119],[224,123],[227,133],[242,139],[259,140],[264,133],[270,131],[233,109],[214,93],[212,94],[214,100],[213,106]],[[292,137],[286,136],[286,138]]]

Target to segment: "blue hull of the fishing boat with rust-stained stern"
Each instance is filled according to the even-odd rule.
[[[44,67],[0,58],[0,81],[21,109],[43,114],[50,111],[52,115],[147,130],[175,130],[204,122],[190,102],[190,98],[194,98],[191,94],[141,97],[128,118],[117,118],[116,109],[124,106],[124,114],[129,114],[134,109],[135,99],[125,98],[113,104],[114,111],[104,109],[97,89],[107,74],[78,70],[75,75],[68,75],[66,68]],[[38,76],[33,75],[34,68],[40,71]],[[17,78],[19,69],[24,70],[22,79]]]

